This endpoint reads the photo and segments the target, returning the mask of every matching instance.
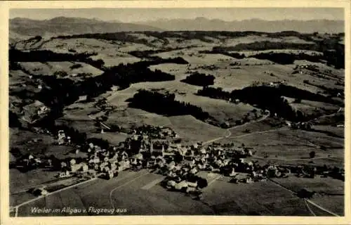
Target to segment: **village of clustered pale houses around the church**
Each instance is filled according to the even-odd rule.
[[[303,129],[305,124],[303,124]],[[300,124],[289,126],[291,129]],[[307,126],[308,127],[308,126]],[[48,132],[48,131],[47,131]],[[182,145],[178,134],[168,127],[143,126],[133,130],[133,134],[118,146],[99,146],[95,143],[85,143],[78,146],[72,143],[70,136],[64,130],[58,131],[55,144],[60,146],[74,146],[75,154],[84,153],[86,157],[66,158],[37,158],[29,154],[15,162],[15,167],[27,169],[51,168],[58,171],[58,179],[66,186],[86,179],[114,179],[124,170],[139,171],[147,169],[163,175],[161,185],[170,191],[180,191],[196,195],[201,200],[202,189],[208,186],[208,181],[199,172],[211,172],[230,177],[230,183],[251,184],[267,181],[273,178],[287,178],[289,176],[314,176],[345,179],[343,169],[329,167],[315,167],[311,165],[282,165],[267,163],[260,165],[255,160],[252,148],[244,144],[234,143],[221,145],[219,143]],[[71,184],[72,183],[72,184]],[[49,188],[32,188],[31,193],[43,196],[50,193]],[[310,198],[312,191],[301,190],[303,198]]]

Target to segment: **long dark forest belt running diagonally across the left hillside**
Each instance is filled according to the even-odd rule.
[[[55,79],[55,77],[43,77],[44,82],[50,89],[44,89],[39,93],[40,101],[46,105],[72,104],[79,96],[87,95],[88,99],[99,96],[110,90],[113,85],[120,89],[128,88],[138,82],[161,82],[173,80],[175,77],[161,70],[150,70],[147,66],[149,61],[127,65],[118,65],[107,69],[102,75],[88,77],[84,81],[74,83],[71,79]]]

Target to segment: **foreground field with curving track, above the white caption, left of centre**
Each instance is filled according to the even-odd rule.
[[[74,214],[76,216],[84,214],[96,215],[96,213],[88,212],[88,207],[127,210],[125,213],[114,212],[114,214],[105,213],[105,215],[211,214],[211,209],[208,209],[206,205],[192,200],[192,198],[185,196],[183,193],[168,192],[164,188],[159,187],[159,184],[155,184],[155,186],[151,186],[147,190],[143,188],[150,184],[150,181],[159,178],[159,175],[149,174],[146,171],[123,172],[116,179],[91,181],[46,198],[41,198],[37,202],[20,207],[18,215],[41,216],[41,214],[30,213],[30,208],[34,205],[60,209],[69,205],[72,208],[87,210],[86,213]],[[128,196],[128,198],[119,198],[121,195]],[[145,203],[149,207],[144,207],[143,204]],[[60,216],[62,215],[65,214],[60,214]],[[103,215],[103,213],[100,215]]]

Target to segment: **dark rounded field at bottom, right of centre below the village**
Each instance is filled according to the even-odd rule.
[[[204,201],[224,215],[310,215],[301,207],[303,200],[289,191],[277,191],[270,181],[253,184],[216,181],[204,191]]]

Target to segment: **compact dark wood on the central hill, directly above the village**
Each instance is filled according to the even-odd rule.
[[[175,94],[161,94],[155,91],[139,90],[129,103],[130,107],[140,108],[160,115],[192,115],[198,120],[207,120],[210,115],[190,103],[175,100]]]

